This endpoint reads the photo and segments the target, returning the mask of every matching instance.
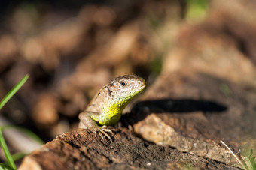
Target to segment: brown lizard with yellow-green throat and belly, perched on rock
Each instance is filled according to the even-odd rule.
[[[145,87],[145,79],[135,74],[112,79],[98,91],[84,112],[79,114],[78,128],[89,129],[95,134],[98,132],[103,140],[103,135],[111,140],[108,133],[113,133],[107,126],[117,124],[123,109]]]

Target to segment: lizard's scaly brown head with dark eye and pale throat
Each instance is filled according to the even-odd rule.
[[[136,94],[145,88],[145,80],[135,74],[119,76],[108,84],[108,94],[114,100],[128,103]]]

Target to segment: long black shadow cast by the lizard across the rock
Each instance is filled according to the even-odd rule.
[[[225,112],[227,106],[209,100],[193,99],[162,99],[162,100],[145,100],[136,103],[129,114],[123,115],[123,121],[129,121],[129,124],[136,124],[143,120],[150,113],[188,113],[188,112]]]

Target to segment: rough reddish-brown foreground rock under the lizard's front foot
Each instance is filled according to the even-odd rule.
[[[167,145],[154,145],[123,129],[114,142],[76,130],[58,136],[23,160],[20,169],[235,169]]]

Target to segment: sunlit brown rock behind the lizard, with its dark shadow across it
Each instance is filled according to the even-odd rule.
[[[221,91],[221,85],[230,92]],[[152,91],[157,96],[151,96]],[[255,139],[256,94],[239,85],[206,74],[172,73],[161,76],[145,98],[151,100],[137,103],[136,115],[130,116],[139,120],[134,122],[135,132],[148,141],[239,166],[220,140],[237,152],[241,142]]]

